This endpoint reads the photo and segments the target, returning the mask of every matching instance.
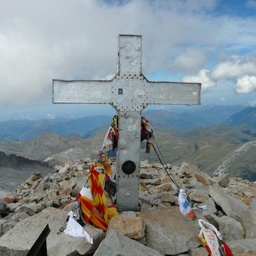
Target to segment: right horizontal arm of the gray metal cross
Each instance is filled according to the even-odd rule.
[[[200,105],[201,83],[149,82],[148,104]]]

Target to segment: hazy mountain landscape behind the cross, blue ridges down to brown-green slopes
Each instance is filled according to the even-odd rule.
[[[143,115],[154,128],[166,162],[190,162],[208,173],[222,168],[231,176],[256,180],[256,108],[201,106],[145,111]],[[50,163],[94,159],[110,123],[111,117],[106,115],[0,122],[0,151]],[[143,147],[141,158],[156,162],[155,152],[145,154]],[[6,168],[0,167],[0,172],[6,173]],[[11,168],[9,173],[19,169]],[[33,168],[38,171],[38,166]]]

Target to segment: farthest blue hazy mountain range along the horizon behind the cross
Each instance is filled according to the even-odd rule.
[[[187,106],[173,108],[171,111],[143,111],[154,127],[158,129],[181,129],[192,127],[211,127],[225,122],[231,115],[245,106]],[[79,119],[43,119],[43,120],[7,120],[0,122],[0,139],[28,140],[43,132],[52,132],[61,136],[78,134],[92,136],[111,123],[111,116],[92,115]]]

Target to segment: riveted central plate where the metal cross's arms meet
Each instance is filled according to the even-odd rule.
[[[148,101],[148,84],[143,76],[117,75],[112,84],[112,106],[117,111],[143,111]]]

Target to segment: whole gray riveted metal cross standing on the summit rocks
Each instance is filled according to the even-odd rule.
[[[53,80],[53,103],[111,104],[118,111],[117,204],[138,211],[141,111],[149,104],[199,105],[201,83],[150,82],[141,73],[141,36],[118,36],[112,80]]]

